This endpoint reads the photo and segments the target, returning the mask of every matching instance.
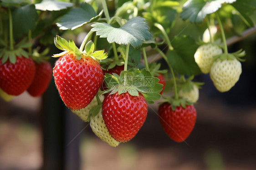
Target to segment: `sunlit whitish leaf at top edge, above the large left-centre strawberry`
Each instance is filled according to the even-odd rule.
[[[35,5],[36,5],[36,10],[56,11],[56,10],[64,10],[64,9],[67,9],[68,7],[72,7],[73,3],[49,0],[49,1],[43,1]]]

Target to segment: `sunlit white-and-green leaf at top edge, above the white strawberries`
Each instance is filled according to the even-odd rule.
[[[236,0],[188,0],[183,5],[180,17],[189,19],[192,23],[201,23],[205,16],[219,10],[224,3],[233,3]]]

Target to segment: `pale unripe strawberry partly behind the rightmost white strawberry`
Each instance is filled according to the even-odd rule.
[[[198,47],[195,52],[195,62],[199,66],[202,73],[209,73],[213,63],[213,56],[220,55],[222,50],[219,46],[213,44],[205,44]]]

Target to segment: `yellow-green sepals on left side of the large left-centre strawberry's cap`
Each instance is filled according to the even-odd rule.
[[[82,52],[77,48],[73,40],[69,40],[69,42],[67,42],[67,40],[61,38],[59,35],[56,35],[56,38],[54,38],[54,44],[60,50],[74,53],[76,55],[77,60],[81,59]],[[60,57],[66,54],[67,52],[61,52],[59,54],[53,55],[53,57]]]

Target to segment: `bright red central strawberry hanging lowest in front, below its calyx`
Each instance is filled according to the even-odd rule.
[[[148,105],[144,96],[115,93],[102,103],[102,116],[109,134],[118,142],[131,140],[146,120]]]

